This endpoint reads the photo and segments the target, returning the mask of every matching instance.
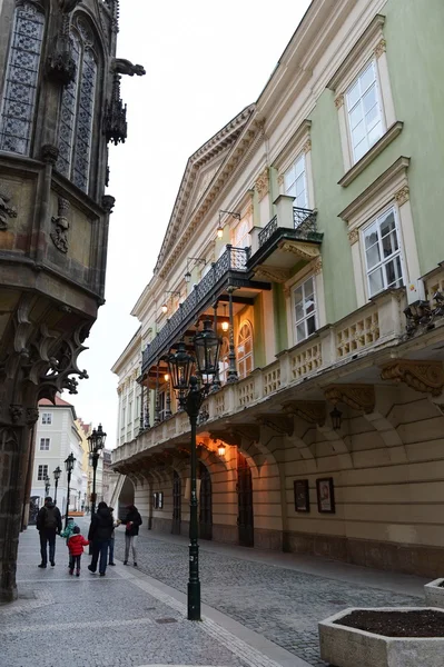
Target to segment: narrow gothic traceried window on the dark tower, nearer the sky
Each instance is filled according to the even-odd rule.
[[[87,192],[98,61],[92,31],[81,17],[71,29],[70,41],[76,78],[65,88],[61,100],[57,169]]]

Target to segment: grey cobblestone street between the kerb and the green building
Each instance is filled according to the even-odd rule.
[[[314,667],[325,667],[319,658],[317,633],[317,623],[323,618],[346,607],[423,604],[412,595],[369,587],[365,584],[365,569],[359,586],[329,576],[328,561],[324,561],[325,576],[318,576],[278,565],[280,555],[276,555],[277,565],[269,565],[249,560],[246,549],[235,547],[231,551],[237,549],[241,557],[234,557],[215,545],[209,548],[204,540],[200,545],[203,603]],[[116,554],[124,558],[121,529],[117,531]],[[144,532],[139,536],[139,569],[184,593],[188,579],[187,554],[186,540],[177,544],[169,536],[165,539]]]

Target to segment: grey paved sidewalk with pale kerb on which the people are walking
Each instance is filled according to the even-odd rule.
[[[30,527],[20,536],[19,599],[0,605],[2,667],[307,667],[214,609],[188,621],[186,597],[134,567],[118,563],[99,577],[85,554],[81,576],[70,576],[61,538],[56,567],[39,569],[39,561]]]

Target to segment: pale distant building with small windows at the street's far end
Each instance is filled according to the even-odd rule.
[[[52,405],[47,398],[39,400],[39,419],[36,427],[36,456],[33,461],[31,499],[41,507],[45,496],[45,478],[49,477],[49,495],[55,497],[53,471],[60,467],[61,474],[57,489],[57,505],[66,511],[68,480],[65,460],[72,452],[76,465],[71,475],[69,507],[81,509],[86,492],[86,474],[82,467],[81,437],[76,425],[75,407],[56,396]]]

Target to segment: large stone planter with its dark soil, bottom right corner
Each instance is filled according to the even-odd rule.
[[[444,610],[345,609],[319,623],[319,643],[334,667],[442,667]]]

